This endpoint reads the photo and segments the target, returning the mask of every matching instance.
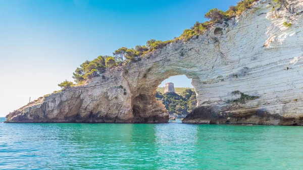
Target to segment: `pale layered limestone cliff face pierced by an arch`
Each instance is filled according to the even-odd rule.
[[[270,3],[32,102],[7,122],[168,122],[156,89],[186,75],[198,103],[184,123],[303,125],[303,2],[279,11]]]

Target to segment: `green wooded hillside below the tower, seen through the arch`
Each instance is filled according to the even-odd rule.
[[[191,89],[185,89],[182,93],[156,92],[156,99],[165,105],[170,116],[184,118],[197,104],[196,94]]]

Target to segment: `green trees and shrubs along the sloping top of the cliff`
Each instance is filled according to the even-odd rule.
[[[144,56],[147,52],[163,48],[174,41],[188,41],[194,36],[204,34],[216,23],[222,23],[241,15],[243,12],[251,9],[252,4],[257,1],[259,0],[241,0],[236,6],[231,6],[225,12],[216,8],[212,9],[205,15],[205,18],[209,19],[209,21],[204,23],[196,22],[190,29],[185,29],[179,37],[175,37],[174,40],[161,41],[151,39],[146,42],[146,45],[137,45],[135,48],[121,47],[113,52],[113,56],[99,55],[93,61],[85,61],[81,64],[73,73],[73,79],[76,83],[82,84],[88,79],[99,77],[105,72],[106,68],[120,65],[123,62],[139,61],[140,57]],[[274,2],[277,8],[287,8],[288,6],[287,0],[274,0]],[[68,88],[67,86],[63,87],[64,89]]]

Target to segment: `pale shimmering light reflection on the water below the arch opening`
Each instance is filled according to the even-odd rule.
[[[182,169],[184,164],[197,164],[192,156],[196,150],[197,126],[160,124],[156,126],[156,136],[158,169]]]

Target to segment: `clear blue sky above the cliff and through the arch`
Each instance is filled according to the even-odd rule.
[[[178,37],[238,0],[0,0],[0,117],[59,90],[81,63]],[[192,87],[186,76],[165,80]]]

